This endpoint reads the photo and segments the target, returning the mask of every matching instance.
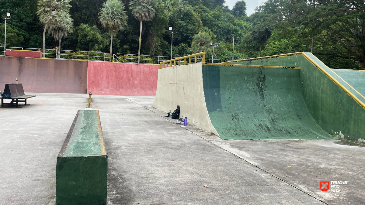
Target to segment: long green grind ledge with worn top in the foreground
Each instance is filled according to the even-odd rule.
[[[56,205],[105,205],[107,172],[99,111],[79,110],[57,157]]]

